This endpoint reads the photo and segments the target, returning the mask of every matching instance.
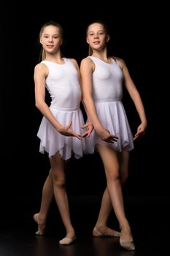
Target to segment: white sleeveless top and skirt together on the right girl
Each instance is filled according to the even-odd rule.
[[[103,126],[113,135],[117,135],[115,143],[101,140],[95,130],[88,138],[88,145],[95,148],[97,143],[111,146],[116,151],[130,151],[134,148],[133,135],[128,118],[121,102],[123,96],[123,72],[117,61],[112,59],[108,64],[94,56],[89,56],[95,64],[93,72],[93,99],[98,118]]]

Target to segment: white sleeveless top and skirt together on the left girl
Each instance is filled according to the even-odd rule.
[[[42,61],[48,68],[46,88],[50,93],[50,110],[55,118],[66,126],[72,121],[72,129],[78,134],[85,132],[81,128],[84,124],[82,111],[80,110],[81,89],[77,69],[69,59],[63,58],[64,64],[53,61]],[[39,127],[37,136],[40,138],[39,151],[47,151],[49,157],[59,151],[63,159],[80,158],[87,151],[85,139],[61,135],[47,121],[45,116]]]

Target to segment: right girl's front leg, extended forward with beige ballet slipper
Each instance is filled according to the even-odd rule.
[[[120,244],[126,249],[134,249],[131,227],[125,217],[117,152],[113,151],[112,148],[102,145],[98,145],[97,149],[104,163],[104,169],[107,176],[107,189],[116,217],[120,224]]]

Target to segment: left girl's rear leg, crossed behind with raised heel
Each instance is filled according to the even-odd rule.
[[[50,173],[47,176],[45,184],[42,189],[42,201],[41,201],[39,214],[34,214],[34,220],[38,224],[38,230],[36,231],[36,235],[44,235],[45,233],[47,214],[48,214],[52,199],[53,199],[53,178],[51,176],[51,170],[50,170]]]

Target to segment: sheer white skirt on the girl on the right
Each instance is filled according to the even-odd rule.
[[[134,148],[134,140],[131,128],[128,124],[128,118],[120,100],[95,102],[96,111],[101,124],[109,130],[112,135],[118,137],[117,142],[107,143],[98,137],[96,131],[93,129],[90,138],[87,138],[88,148],[94,151],[96,144],[103,144],[115,149],[115,151],[131,151]]]

